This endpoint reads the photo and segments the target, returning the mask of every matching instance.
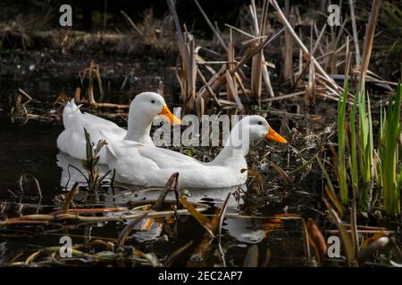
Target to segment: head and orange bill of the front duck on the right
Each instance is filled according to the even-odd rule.
[[[249,116],[248,128],[252,139],[264,138],[273,142],[288,142],[281,134],[276,133],[266,119],[261,116]]]

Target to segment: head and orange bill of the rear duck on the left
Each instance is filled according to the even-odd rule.
[[[140,116],[147,120],[150,119],[152,121],[156,116],[160,115],[166,118],[172,125],[181,125],[180,118],[172,114],[163,97],[155,92],[138,94],[130,104],[130,113],[131,110],[133,114],[136,114],[135,116]]]

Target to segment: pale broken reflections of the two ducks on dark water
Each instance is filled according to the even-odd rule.
[[[61,151],[57,154],[57,165],[63,169],[60,185],[64,189],[70,189],[72,184],[76,181],[85,182],[85,178],[80,173],[80,171],[83,173],[85,172],[81,166],[80,159],[74,159]],[[105,165],[99,165],[99,167],[100,175],[105,175],[109,170]],[[80,171],[76,168],[80,169]],[[110,193],[105,195],[105,202],[111,205],[121,205],[121,203],[126,203],[128,201],[143,200],[144,203],[147,204],[147,200],[157,199],[160,191],[161,188],[139,188],[133,185],[115,183],[113,194]],[[205,203],[214,208],[222,208],[224,200],[228,194],[230,194],[226,210],[226,213],[228,214],[238,213],[238,206],[241,201],[237,200],[233,195],[233,193],[238,191],[247,191],[247,186],[241,185],[230,188],[214,189],[214,191],[205,189],[186,189],[186,192],[189,193],[189,201]],[[174,191],[170,191],[166,196],[166,199],[176,199]],[[111,216],[121,214],[109,212],[104,215]],[[153,218],[146,218],[136,225],[132,237],[138,241],[156,240],[162,238],[162,229],[163,226],[161,223]],[[255,226],[253,219],[249,218],[227,217],[223,222],[222,230],[223,232],[230,234],[231,237],[239,242],[247,244],[258,243],[261,240],[264,240],[265,236],[264,229]]]

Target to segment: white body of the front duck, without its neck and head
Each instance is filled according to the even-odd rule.
[[[130,141],[113,142],[113,148],[107,149],[107,164],[121,183],[162,187],[175,172],[180,174],[179,186],[188,188],[230,187],[247,179],[247,172],[241,174],[247,168],[244,157],[227,159],[227,164],[203,163],[180,152]]]

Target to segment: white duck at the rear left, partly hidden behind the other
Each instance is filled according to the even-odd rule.
[[[86,159],[84,128],[95,145],[103,139],[99,133],[102,130],[113,142],[129,140],[153,147],[155,144],[152,142],[149,133],[152,122],[158,115],[165,116],[173,125],[181,124],[180,118],[176,118],[172,114],[163,97],[153,92],[138,94],[130,103],[127,131],[105,118],[82,113],[80,106],[71,100],[63,110],[64,130],[57,138],[57,147],[73,158]],[[105,148],[99,152],[99,156],[99,162],[105,164]]]

